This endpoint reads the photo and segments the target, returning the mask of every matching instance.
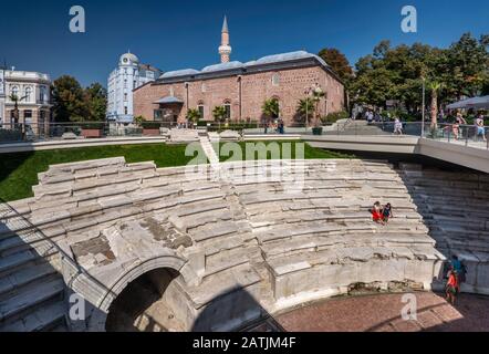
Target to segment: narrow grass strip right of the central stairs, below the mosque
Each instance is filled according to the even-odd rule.
[[[240,143],[236,143],[239,145],[240,147],[240,154],[238,154],[237,156],[237,160],[242,160],[242,159],[247,159],[247,160],[252,160],[252,159],[258,159],[259,155],[258,153],[254,153],[254,156],[247,156],[246,153],[246,144],[247,143],[252,143],[252,144],[257,144],[257,143],[263,143],[267,147],[268,147],[268,152],[267,152],[267,159],[271,159],[271,145],[278,145],[280,147],[280,158],[282,158],[282,154],[283,154],[283,146],[284,144],[290,144],[291,146],[291,158],[295,158],[295,152],[296,152],[296,144],[304,144],[304,159],[322,159],[322,158],[355,158],[354,155],[345,155],[345,154],[340,154],[340,153],[334,153],[334,152],[330,152],[330,150],[325,150],[322,148],[315,148],[312,147],[311,145],[303,143],[303,142],[240,142]],[[226,143],[220,143],[219,144],[219,148],[222,153],[222,146],[225,146]],[[275,146],[277,146],[275,145]],[[223,155],[223,154],[221,154]],[[230,154],[230,156],[232,157],[232,153]],[[230,160],[229,156],[219,156],[219,160],[221,163]]]

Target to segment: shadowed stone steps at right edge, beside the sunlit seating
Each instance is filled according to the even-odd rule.
[[[403,165],[402,176],[437,249],[466,263],[462,291],[489,294],[489,176],[419,165]]]

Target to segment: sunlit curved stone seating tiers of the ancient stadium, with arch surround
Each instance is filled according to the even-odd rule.
[[[181,274],[164,296],[197,331],[236,329],[358,284],[428,290],[440,273],[445,258],[388,164],[221,166],[226,173],[215,178],[210,166],[209,174],[186,175],[185,167],[111,158],[40,174],[23,209],[76,261],[60,271],[93,305],[91,329],[104,329],[131,281],[160,268]],[[395,207],[388,226],[371,221],[376,200]]]

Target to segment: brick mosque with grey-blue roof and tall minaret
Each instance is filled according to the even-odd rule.
[[[290,126],[301,121],[296,112],[299,101],[318,86],[325,93],[318,104],[321,116],[344,110],[344,85],[318,55],[298,51],[241,63],[230,61],[230,53],[225,19],[219,46],[221,63],[201,71],[167,72],[136,88],[134,114],[148,121],[185,123],[188,110],[196,108],[201,119],[211,122],[212,110],[225,106],[230,121],[260,122],[264,119],[261,107],[266,100],[277,98],[280,117]]]

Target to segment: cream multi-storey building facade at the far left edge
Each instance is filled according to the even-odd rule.
[[[38,72],[0,71],[0,122],[3,127],[24,124],[43,134],[51,122],[51,79]],[[15,101],[19,115],[15,116]]]

